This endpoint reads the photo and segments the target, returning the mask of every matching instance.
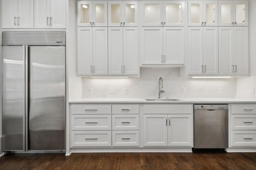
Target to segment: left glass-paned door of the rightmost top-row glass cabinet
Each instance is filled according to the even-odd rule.
[[[219,26],[233,26],[233,16],[233,1],[219,1]]]

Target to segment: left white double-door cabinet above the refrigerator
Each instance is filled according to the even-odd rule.
[[[2,28],[34,28],[34,0],[2,0]]]

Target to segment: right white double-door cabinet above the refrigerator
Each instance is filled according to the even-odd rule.
[[[34,0],[35,28],[66,28],[66,0]]]

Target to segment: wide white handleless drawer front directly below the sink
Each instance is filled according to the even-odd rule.
[[[144,114],[192,114],[193,105],[189,104],[152,104],[144,105]]]

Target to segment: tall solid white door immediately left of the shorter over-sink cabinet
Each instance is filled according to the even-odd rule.
[[[138,74],[138,28],[124,27],[124,75]]]

